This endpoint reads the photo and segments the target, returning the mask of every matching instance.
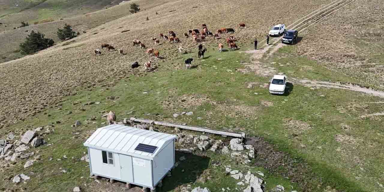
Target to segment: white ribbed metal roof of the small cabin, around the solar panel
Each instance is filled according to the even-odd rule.
[[[166,144],[175,138],[175,135],[167,133],[114,124],[97,129],[87,141],[85,141],[84,146],[153,159]],[[137,151],[135,148],[139,143],[156,146],[157,149],[153,154]]]

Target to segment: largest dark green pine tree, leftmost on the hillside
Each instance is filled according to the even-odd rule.
[[[43,50],[53,45],[54,41],[49,38],[44,38],[44,34],[37,31],[31,31],[26,37],[24,43],[20,43],[20,51],[23,54],[31,54]]]

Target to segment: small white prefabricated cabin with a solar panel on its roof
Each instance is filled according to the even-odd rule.
[[[109,125],[84,143],[91,174],[155,189],[175,164],[175,135]]]

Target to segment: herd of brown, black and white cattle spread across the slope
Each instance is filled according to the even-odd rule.
[[[240,23],[239,29],[243,29],[243,28],[246,28],[245,23]],[[221,38],[220,34],[222,34],[222,33],[235,33],[235,30],[233,28],[221,28],[221,29],[218,29],[216,31],[216,33],[214,34],[208,30],[207,25],[202,24],[201,33],[198,29],[189,30],[188,33],[184,33],[184,38],[189,38],[189,36],[190,36],[192,38],[192,41],[197,43],[197,42],[205,41],[205,38],[207,38],[207,36],[214,36],[214,39],[220,39]],[[168,35],[169,36],[164,35],[163,33],[160,33],[159,38],[162,38],[166,41],[168,40],[169,43],[181,42],[180,39],[177,38],[176,33],[174,31],[168,31]],[[151,40],[154,42],[154,45],[159,45],[159,43],[160,43],[160,40],[158,40],[157,38],[152,38]],[[237,49],[237,45],[234,41],[235,41],[234,36],[229,36],[229,38],[226,39],[226,43],[227,43],[227,46],[228,46],[230,51]],[[141,43],[141,41],[137,40],[137,39],[132,41],[132,45],[133,46],[139,45],[139,47],[141,49],[146,48],[144,43]],[[115,50],[115,48],[112,45],[109,45],[106,43],[101,44],[101,49],[103,50],[104,48],[106,48],[108,51]],[[198,48],[199,48],[199,51],[197,52],[198,59],[204,58],[204,53],[207,51],[207,49],[205,49],[205,48],[203,49],[202,44],[200,44],[198,46]],[[179,46],[178,50],[179,50],[179,53],[181,54],[182,50],[183,50],[181,45]],[[219,43],[218,44],[218,51],[221,53],[222,50],[223,50],[223,43]],[[123,55],[123,50],[118,49],[118,53],[119,53],[119,55]],[[154,50],[153,48],[147,49],[146,53],[148,53],[149,56],[151,56],[153,54],[155,56],[155,58],[159,58],[159,51]],[[101,55],[101,50],[95,49],[94,54],[95,55]],[[185,66],[187,69],[191,66],[192,61],[193,61],[193,58],[188,58],[187,60],[185,60]],[[151,63],[152,63],[152,61],[148,61],[144,65],[144,69],[149,70],[151,68]],[[134,63],[132,63],[131,67],[137,68],[137,67],[139,67],[139,63],[134,62]]]

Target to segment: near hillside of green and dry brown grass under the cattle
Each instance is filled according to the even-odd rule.
[[[233,189],[237,181],[223,174],[226,164],[244,171],[262,170],[266,173],[267,190],[282,184],[287,191],[382,191],[384,100],[364,93],[372,89],[355,86],[352,90],[358,91],[351,91],[343,85],[356,83],[384,94],[378,81],[370,80],[369,72],[360,68],[359,73],[346,70],[373,61],[382,65],[381,36],[375,36],[377,41],[369,41],[370,46],[366,46],[363,37],[369,31],[360,30],[365,25],[363,21],[380,24],[377,18],[382,16],[372,15],[383,8],[377,2],[354,1],[300,31],[300,42],[287,46],[278,43],[278,38],[271,38],[272,45],[266,46],[263,36],[272,25],[290,25],[331,1],[295,1],[288,8],[295,14],[286,16],[270,14],[276,7],[286,6],[286,2],[132,2],[141,5],[142,11],[106,22],[35,55],[0,64],[0,100],[4,101],[0,103],[0,135],[13,132],[20,136],[41,126],[55,129],[53,134],[44,135],[52,146],[31,150],[41,155],[32,167],[23,168],[26,160],[3,164],[0,171],[7,173],[0,174],[4,190],[25,187],[30,191],[68,191],[74,186],[81,186],[84,191],[123,190],[119,183],[111,185],[103,180],[98,184],[89,179],[88,164],[79,161],[85,150],[82,142],[105,125],[105,119],[99,118],[101,114],[113,110],[119,120],[137,116],[262,137],[254,143],[257,157],[252,166],[236,165],[231,159],[210,152],[188,156],[189,164],[182,164],[174,170],[174,177],[164,180],[165,191],[180,191],[185,185],[209,187],[212,191]],[[103,16],[116,12],[120,6],[92,13],[89,19],[104,22]],[[89,20],[83,17],[86,16],[73,18],[73,22],[84,27]],[[356,17],[361,28],[351,27],[348,35],[337,36],[334,31],[352,25]],[[245,22],[247,28],[239,30],[240,22]],[[197,60],[199,43],[182,34],[200,29],[202,23],[212,31],[234,28],[239,50],[228,51],[225,45],[225,51],[218,53],[217,44],[224,43],[229,34],[222,34],[218,40],[209,37],[202,43],[208,49],[204,60]],[[155,46],[151,38],[169,30],[174,30],[182,42],[161,40]],[[321,31],[327,31],[329,38],[318,38]],[[255,37],[260,44],[253,51],[251,42]],[[159,50],[161,58],[148,56],[145,50],[132,46],[134,39]],[[92,51],[101,43],[122,48],[125,55],[102,50],[101,56],[95,56]],[[178,53],[180,45],[187,53]],[[356,51],[352,59],[343,59],[353,52],[340,51],[346,50],[344,46]],[[194,67],[186,70],[184,60],[191,57],[195,59]],[[142,65],[149,60],[152,70],[144,71]],[[141,66],[131,69],[134,61]],[[340,68],[341,64],[345,66]],[[376,69],[371,74],[379,78],[382,73]],[[278,73],[286,74],[291,82],[289,92],[282,96],[268,93],[270,77]],[[324,83],[332,84],[324,87]],[[97,101],[101,103],[86,104]],[[183,111],[193,111],[194,116],[172,116]],[[84,122],[83,126],[71,127],[76,120]],[[176,133],[165,127],[157,129]],[[69,158],[62,159],[64,155]],[[74,159],[70,159],[72,156]],[[68,173],[63,174],[62,169]],[[12,177],[22,172],[35,174],[28,184],[12,184]],[[210,179],[200,180],[202,175]]]

